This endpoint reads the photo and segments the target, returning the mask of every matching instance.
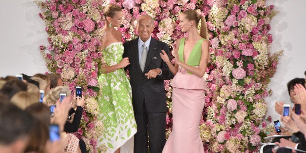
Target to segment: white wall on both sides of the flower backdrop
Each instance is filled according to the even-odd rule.
[[[277,72],[269,88],[273,95],[266,98],[268,114],[273,120],[274,102],[289,103],[287,82],[294,77],[305,77],[306,70],[306,0],[267,0],[279,13],[271,21],[273,42],[271,52],[284,50]],[[25,73],[34,75],[47,70],[39,45],[47,45],[45,25],[39,18],[38,6],[32,0],[0,1],[0,76]]]

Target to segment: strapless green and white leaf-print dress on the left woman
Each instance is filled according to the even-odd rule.
[[[108,66],[120,63],[123,55],[122,42],[113,42],[103,50]],[[132,89],[124,69],[98,76],[100,94],[98,105],[99,119],[104,124],[104,132],[98,145],[105,144],[107,153],[114,153],[121,147],[121,153],[133,153],[134,134],[137,131],[132,106]],[[128,141],[128,143],[126,143]],[[122,146],[123,145],[123,146]]]

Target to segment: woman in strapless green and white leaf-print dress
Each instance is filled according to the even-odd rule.
[[[99,145],[108,147],[107,153],[133,153],[136,122],[132,106],[132,90],[124,67],[130,64],[129,58],[122,58],[123,44],[119,27],[123,18],[122,9],[115,4],[104,6],[106,19],[105,36],[101,40],[102,54],[107,66],[101,67],[98,76],[100,95],[99,119],[105,130],[98,139]]]

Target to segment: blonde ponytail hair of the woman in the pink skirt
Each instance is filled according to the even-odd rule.
[[[202,38],[209,39],[207,34],[206,19],[204,16],[199,15],[195,10],[186,10],[183,11],[182,14],[184,14],[186,16],[186,19],[188,19],[189,21],[194,20],[196,28],[198,27],[198,24],[201,19],[200,36]]]

